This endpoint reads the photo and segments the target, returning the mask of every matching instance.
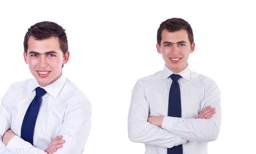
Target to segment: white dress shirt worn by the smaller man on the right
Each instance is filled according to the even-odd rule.
[[[167,154],[167,148],[183,144],[183,154],[207,154],[207,144],[216,140],[221,125],[221,92],[210,78],[191,72],[179,74],[181,117],[168,117],[169,90],[173,72],[164,69],[137,81],[132,90],[128,135],[145,143],[145,154]],[[210,119],[196,119],[206,106],[215,108]],[[148,123],[148,116],[164,115],[162,127]],[[186,140],[189,140],[188,142]]]

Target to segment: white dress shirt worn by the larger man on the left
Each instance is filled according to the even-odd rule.
[[[20,138],[26,110],[40,87],[35,78],[12,84],[0,106],[0,154],[47,154],[44,149],[58,135],[65,143],[54,154],[81,154],[91,128],[90,101],[75,84],[62,74],[44,88],[38,118],[35,123],[33,145]],[[7,146],[2,139],[8,130],[17,134]]]

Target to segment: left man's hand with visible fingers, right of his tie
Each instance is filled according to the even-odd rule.
[[[62,144],[65,143],[65,140],[61,140],[61,139],[62,139],[61,135],[52,139],[52,142],[44,151],[47,152],[48,154],[52,154],[56,152],[58,148],[62,148]]]

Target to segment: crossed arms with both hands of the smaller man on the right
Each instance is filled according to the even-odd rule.
[[[197,118],[168,116],[148,117],[149,105],[139,82],[135,84],[128,115],[128,135],[133,142],[171,148],[187,140],[209,142],[216,140],[220,130],[220,92],[215,82],[205,87],[201,112]]]

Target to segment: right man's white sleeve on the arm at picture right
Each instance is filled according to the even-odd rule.
[[[206,106],[215,108],[215,114],[210,119],[185,119],[177,117],[163,118],[162,128],[180,135],[190,141],[209,142],[216,140],[221,127],[221,92],[214,81],[205,84],[204,100],[201,110]]]

